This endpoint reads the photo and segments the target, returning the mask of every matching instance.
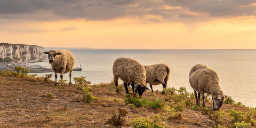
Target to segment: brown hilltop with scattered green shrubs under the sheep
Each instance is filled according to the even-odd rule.
[[[231,98],[213,111],[209,98],[206,108],[198,107],[185,87],[168,88],[163,95],[147,91],[139,98],[126,95],[123,85],[117,93],[114,83],[91,85],[85,77],[54,87],[50,75],[29,76],[22,69],[0,71],[0,127],[256,126],[256,109]]]

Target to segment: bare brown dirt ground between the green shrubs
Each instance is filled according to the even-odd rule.
[[[159,113],[148,107],[126,107],[125,91],[110,91],[106,84],[91,85],[93,96],[99,98],[91,103],[83,101],[82,92],[76,85],[66,84],[63,88],[53,85],[53,81],[0,75],[0,127],[114,127],[107,121],[111,112],[117,112],[119,107],[128,111],[124,127],[132,127],[130,122],[135,117]],[[47,97],[47,92],[51,92],[54,98]],[[149,100],[158,95],[161,97],[161,92],[143,93],[143,97]],[[206,106],[211,107],[212,103],[207,102]],[[227,113],[236,107],[247,111],[245,107],[234,105],[223,105],[221,110]],[[181,115],[180,119],[169,119],[166,123],[171,127],[216,126],[201,111],[186,108]],[[230,119],[225,119],[225,123],[230,123]]]

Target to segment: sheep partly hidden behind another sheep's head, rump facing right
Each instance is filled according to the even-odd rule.
[[[167,65],[164,63],[159,63],[156,65],[149,65],[144,67],[146,70],[146,84],[149,83],[152,92],[152,85],[162,84],[163,87],[166,88],[167,81],[170,76],[170,68]]]

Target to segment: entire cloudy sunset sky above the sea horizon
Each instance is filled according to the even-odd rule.
[[[255,0],[0,0],[0,42],[256,49]]]

